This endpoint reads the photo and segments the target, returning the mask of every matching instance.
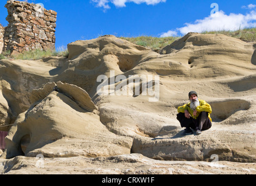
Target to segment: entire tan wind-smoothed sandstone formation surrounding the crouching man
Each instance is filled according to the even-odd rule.
[[[2,173],[254,174],[254,46],[189,33],[156,53],[105,35],[72,42],[67,59],[0,60],[0,126],[13,124]],[[184,137],[177,106],[191,90],[213,125]]]

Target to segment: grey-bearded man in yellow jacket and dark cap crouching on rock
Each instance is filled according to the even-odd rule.
[[[207,130],[212,126],[212,119],[210,113],[212,113],[211,105],[202,99],[197,98],[197,92],[189,92],[190,102],[180,106],[177,114],[177,120],[180,121],[180,126],[186,127],[182,135],[193,134],[193,130],[196,134],[201,134],[202,130]]]

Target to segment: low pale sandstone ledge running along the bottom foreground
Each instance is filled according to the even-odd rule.
[[[226,161],[162,161],[132,153],[98,158],[84,156],[70,158],[17,156],[5,160],[3,166],[0,166],[0,170],[5,174],[137,174],[137,177],[140,176],[139,174],[153,174],[153,177],[155,177],[156,174],[255,174],[255,166],[255,163]],[[168,179],[169,177],[163,179],[163,181]],[[94,180],[94,183],[102,184],[101,181]],[[228,181],[230,183],[230,180]],[[158,179],[154,183],[159,184],[162,181]]]

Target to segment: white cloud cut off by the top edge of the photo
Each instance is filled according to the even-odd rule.
[[[166,2],[166,0],[91,0],[96,3],[98,7],[103,7],[104,9],[110,9],[109,3],[113,3],[116,7],[125,7],[125,3],[134,2],[136,4],[146,3],[147,5],[155,5],[160,2]]]

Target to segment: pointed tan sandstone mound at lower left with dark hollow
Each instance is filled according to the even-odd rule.
[[[81,108],[69,96],[53,91],[20,114],[6,137],[6,158],[38,154],[97,157],[130,153],[131,138],[109,132],[98,115]],[[87,98],[81,96],[83,99]]]

